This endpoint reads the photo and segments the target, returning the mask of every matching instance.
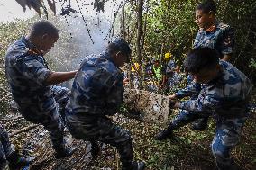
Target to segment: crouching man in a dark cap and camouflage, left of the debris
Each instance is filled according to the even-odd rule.
[[[143,162],[133,161],[132,138],[127,130],[112,123],[123,102],[123,74],[119,67],[129,61],[131,49],[116,39],[104,53],[83,59],[72,85],[66,118],[73,137],[92,143],[94,157],[100,151],[97,141],[117,148],[123,170],[142,170]]]

